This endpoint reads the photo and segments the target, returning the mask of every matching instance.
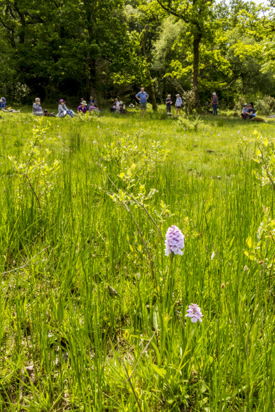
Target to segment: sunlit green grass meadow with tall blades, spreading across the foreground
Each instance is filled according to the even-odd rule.
[[[201,119],[0,113],[1,412],[274,410],[275,123]]]

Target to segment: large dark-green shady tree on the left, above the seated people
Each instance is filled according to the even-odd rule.
[[[123,0],[0,0],[1,32],[14,50],[19,81],[46,95],[75,93],[80,84],[94,95],[98,67],[111,65],[124,50],[122,5]]]

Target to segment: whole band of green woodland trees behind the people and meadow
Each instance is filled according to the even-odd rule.
[[[275,4],[233,0],[0,0],[0,90],[9,103],[96,95],[153,108],[167,93],[212,91],[275,110]],[[265,106],[268,109],[265,110]]]

